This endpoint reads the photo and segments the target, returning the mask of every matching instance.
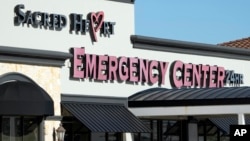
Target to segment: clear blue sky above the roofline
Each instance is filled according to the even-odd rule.
[[[208,44],[250,37],[250,0],[135,0],[135,34]]]

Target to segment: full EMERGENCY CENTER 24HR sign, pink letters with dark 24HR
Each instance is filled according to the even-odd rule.
[[[142,59],[138,57],[96,55],[86,53],[85,48],[72,48],[71,77],[164,85],[169,80],[172,87],[224,87],[226,84],[243,84],[243,74],[225,70],[221,66],[173,63]],[[169,78],[167,79],[167,76]]]

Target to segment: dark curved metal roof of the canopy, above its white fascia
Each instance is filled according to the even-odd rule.
[[[129,107],[250,104],[250,87],[147,89],[129,97]]]

